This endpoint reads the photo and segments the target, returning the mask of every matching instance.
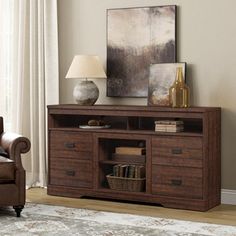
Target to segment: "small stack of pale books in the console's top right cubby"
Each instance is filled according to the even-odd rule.
[[[184,130],[182,120],[158,120],[155,121],[155,131],[159,132],[181,132]]]

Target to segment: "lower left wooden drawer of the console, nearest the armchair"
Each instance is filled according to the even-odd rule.
[[[52,158],[50,184],[71,187],[92,187],[92,163],[74,159]]]

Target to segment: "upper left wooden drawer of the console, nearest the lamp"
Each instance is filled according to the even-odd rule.
[[[78,132],[51,131],[50,156],[92,160],[92,135]]]

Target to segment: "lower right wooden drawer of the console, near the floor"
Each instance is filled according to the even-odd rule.
[[[202,169],[153,165],[152,193],[202,199]]]

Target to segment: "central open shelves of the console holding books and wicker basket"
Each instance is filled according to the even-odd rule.
[[[98,137],[99,187],[144,191],[146,141],[129,136]]]

